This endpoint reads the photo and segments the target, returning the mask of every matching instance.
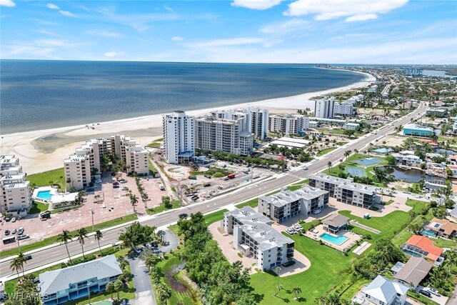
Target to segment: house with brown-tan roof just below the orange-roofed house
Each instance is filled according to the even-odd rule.
[[[404,266],[398,271],[393,279],[410,289],[416,289],[421,281],[430,272],[433,264],[422,257],[411,256]]]

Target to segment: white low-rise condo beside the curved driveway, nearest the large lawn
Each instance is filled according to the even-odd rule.
[[[294,241],[276,231],[271,220],[251,206],[224,213],[221,229],[233,235],[233,249],[256,259],[258,269],[274,269],[293,258]]]

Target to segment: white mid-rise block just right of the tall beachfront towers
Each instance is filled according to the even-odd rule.
[[[268,118],[268,130],[285,136],[309,129],[309,118],[301,114],[274,114]]]

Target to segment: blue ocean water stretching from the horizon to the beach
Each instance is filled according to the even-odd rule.
[[[39,60],[0,60],[0,77],[1,134],[230,106],[365,78],[312,64]]]

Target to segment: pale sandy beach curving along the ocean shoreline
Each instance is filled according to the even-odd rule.
[[[360,73],[360,72],[359,72]],[[271,114],[296,113],[297,109],[310,108],[313,110],[313,96],[328,95],[337,91],[346,91],[368,86],[375,80],[374,76],[365,74],[366,79],[349,86],[343,86],[324,91],[309,92],[297,96],[268,99],[253,103],[236,104],[231,106],[216,107],[186,111],[194,116],[201,116],[209,111],[232,109],[246,106],[258,106],[268,109]],[[100,124],[91,122],[79,126],[66,126],[55,129],[26,131],[16,134],[2,134],[0,140],[0,154],[15,154],[19,157],[23,170],[27,174],[58,169],[63,167],[64,159],[74,153],[74,149],[84,141],[106,137],[110,134],[125,134],[134,137],[140,144],[146,145],[154,139],[162,137],[162,115],[140,116],[132,119],[106,121]],[[89,126],[88,127],[86,126]],[[90,127],[94,126],[94,129]]]

